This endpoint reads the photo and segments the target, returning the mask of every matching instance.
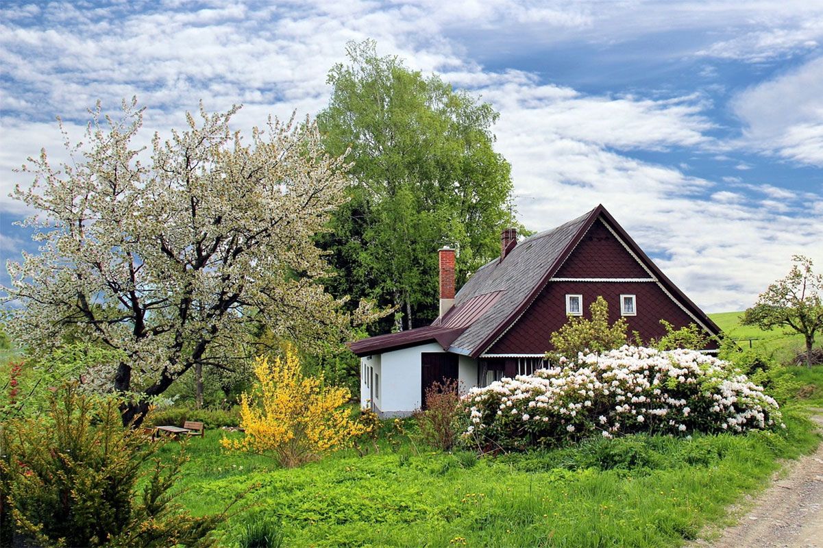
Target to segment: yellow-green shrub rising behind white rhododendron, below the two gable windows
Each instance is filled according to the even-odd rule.
[[[597,297],[589,310],[592,319],[570,316],[569,321],[556,332],[551,333],[551,346],[555,352],[574,360],[579,352],[603,352],[620,348],[626,343],[625,318],[609,325],[609,305],[601,296]],[[550,355],[546,355],[550,358]]]

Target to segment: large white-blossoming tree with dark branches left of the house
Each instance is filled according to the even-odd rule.
[[[187,130],[155,135],[144,165],[135,104],[118,120],[98,104],[60,170],[45,151],[24,166],[35,181],[14,197],[41,211],[26,222],[43,244],[9,264],[7,289],[20,304],[12,335],[30,351],[69,335],[122,356],[86,378],[132,396],[124,421],[188,369],[242,362],[253,325],[305,346],[356,319],[318,283],[329,272],[313,237],[345,201],[348,165],[323,152],[314,123],[270,118],[247,144],[229,128],[237,107],[201,106],[200,123],[188,114]]]

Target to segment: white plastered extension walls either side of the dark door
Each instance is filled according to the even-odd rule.
[[[411,415],[421,406],[421,353],[442,351],[431,342],[360,358],[360,406],[374,404],[381,416]],[[458,382],[463,391],[477,386],[477,360],[459,356]]]

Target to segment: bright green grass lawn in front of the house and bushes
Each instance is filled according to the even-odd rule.
[[[255,523],[277,527],[286,546],[674,546],[762,485],[776,457],[816,442],[795,417],[788,437],[634,436],[479,460],[409,443],[393,453],[383,444],[378,454],[285,470],[265,457],[223,453],[220,437],[188,441],[179,502],[219,512],[258,484],[247,497],[253,507],[226,524],[227,546],[240,546]],[[643,457],[604,459],[614,452],[602,448],[615,443]]]

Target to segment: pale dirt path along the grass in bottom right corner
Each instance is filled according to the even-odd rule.
[[[823,411],[823,410],[820,410]],[[823,416],[814,420],[823,426]],[[775,474],[753,508],[714,540],[692,548],[823,548],[823,444]]]

